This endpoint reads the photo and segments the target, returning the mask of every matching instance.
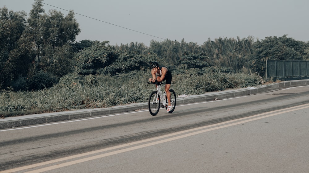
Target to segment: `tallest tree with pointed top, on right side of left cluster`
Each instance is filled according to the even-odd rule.
[[[61,77],[73,70],[72,44],[80,29],[73,12],[69,12],[66,17],[56,10],[50,10],[46,14],[42,1],[34,2],[27,20],[28,25],[19,40],[17,51],[23,49],[24,53],[14,54],[14,58],[21,62],[27,59],[28,69],[23,73],[26,72],[28,78],[40,71]]]

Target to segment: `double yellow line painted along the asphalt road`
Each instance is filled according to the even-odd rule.
[[[104,154],[90,156],[90,157],[87,157],[87,158],[78,159],[78,160],[70,161],[70,162],[67,162],[67,163],[61,163],[61,164],[57,164],[57,165],[54,165],[54,166],[49,166],[49,167],[45,167],[45,168],[26,172],[26,173],[40,173],[40,172],[44,172],[44,171],[57,169],[57,168],[60,168],[60,167],[66,167],[66,166],[69,166],[69,165],[82,163],[82,162],[86,162],[86,161],[89,161],[89,160],[99,159],[99,158],[107,157],[107,156],[114,155],[114,154],[119,154],[119,153],[131,151],[131,150],[137,150],[137,149],[144,148],[144,147],[147,147],[147,146],[153,146],[153,145],[157,145],[157,144],[160,144],[160,143],[169,142],[169,141],[173,141],[173,140],[180,139],[180,138],[185,138],[185,137],[188,137],[188,136],[205,133],[205,132],[212,131],[212,130],[217,130],[217,129],[221,129],[221,128],[225,128],[225,127],[235,126],[235,125],[238,125],[238,124],[251,122],[251,121],[259,120],[259,119],[262,119],[262,118],[271,117],[271,116],[274,116],[274,115],[279,115],[279,114],[282,114],[282,113],[288,113],[288,112],[292,112],[292,111],[296,111],[296,110],[300,110],[300,109],[306,109],[306,108],[309,108],[309,104],[294,106],[294,107],[280,109],[280,110],[274,110],[274,111],[267,112],[267,113],[260,113],[260,114],[253,115],[253,116],[250,116],[250,117],[243,117],[243,118],[230,120],[230,121],[226,121],[226,122],[221,122],[221,123],[217,123],[217,124],[213,124],[213,125],[197,127],[197,128],[194,128],[194,129],[175,132],[175,133],[172,133],[172,134],[167,134],[167,135],[163,135],[163,136],[159,136],[159,137],[155,137],[155,138],[149,138],[149,139],[145,139],[145,140],[141,140],[141,141],[131,142],[131,143],[127,143],[127,144],[123,144],[123,145],[119,145],[119,146],[113,146],[113,147],[109,147],[109,148],[105,148],[105,149],[101,149],[101,150],[96,150],[96,151],[91,151],[91,152],[87,152],[87,153],[83,153],[83,154],[77,154],[77,155],[73,155],[73,156],[69,156],[69,157],[65,157],[65,158],[60,158],[60,159],[55,159],[55,160],[51,160],[51,161],[47,161],[47,162],[32,164],[32,165],[28,165],[28,166],[24,166],[24,167],[18,167],[18,168],[6,170],[6,171],[1,171],[0,173],[11,173],[11,172],[15,172],[15,171],[22,171],[22,170],[26,170],[26,169],[30,169],[30,168],[34,168],[34,167],[44,166],[44,165],[51,164],[51,163],[57,163],[57,162],[61,162],[61,161],[69,160],[69,159],[75,159],[75,158],[84,157],[84,156],[91,155],[91,154],[101,153],[101,152],[108,151],[108,150],[119,149],[119,148],[128,147],[128,146],[132,146],[132,145],[136,145],[136,144],[141,144],[141,143],[144,143],[144,142],[150,142],[150,141],[155,141],[155,140],[162,139],[162,138],[171,137],[171,138],[163,139],[163,140],[160,140],[160,141],[141,144],[141,145],[138,145],[138,146],[124,148],[124,149],[121,149],[121,150],[116,150],[116,151],[112,151],[112,152],[108,152],[108,153],[104,153]],[[264,115],[264,116],[262,116],[262,115]],[[243,120],[243,121],[241,121],[241,120]],[[240,122],[236,122],[236,121],[240,121]],[[235,122],[235,123],[232,123],[232,122]],[[229,124],[229,123],[231,123],[231,124]],[[226,124],[226,125],[224,125],[224,124]],[[213,127],[213,126],[217,126],[217,127]],[[210,128],[210,127],[213,127],[213,128]],[[199,131],[197,131],[197,130],[199,130]],[[196,132],[192,132],[192,131],[196,131]],[[192,133],[188,133],[188,132],[192,132]],[[185,133],[188,133],[188,134],[185,134]],[[183,135],[180,135],[180,134],[183,134]],[[175,135],[179,135],[179,136],[175,136]],[[172,136],[175,136],[175,137],[172,137]]]

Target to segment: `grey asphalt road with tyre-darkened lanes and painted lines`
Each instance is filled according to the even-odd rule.
[[[0,130],[3,172],[308,172],[309,86]]]

